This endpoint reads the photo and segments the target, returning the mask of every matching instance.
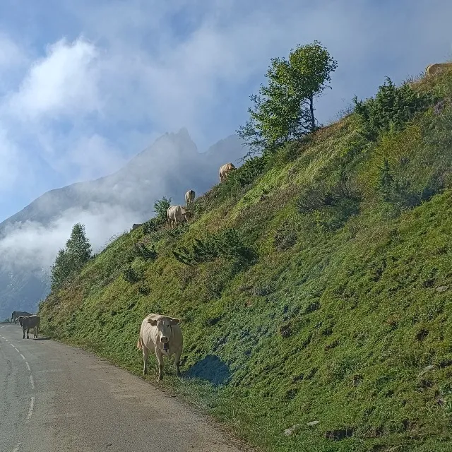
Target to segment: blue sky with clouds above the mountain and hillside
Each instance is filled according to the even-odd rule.
[[[2,0],[0,220],[167,131],[186,126],[206,150],[297,44],[320,40],[338,60],[317,104],[331,121],[385,76],[450,59],[451,17],[450,0]]]

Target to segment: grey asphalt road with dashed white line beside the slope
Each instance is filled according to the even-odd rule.
[[[1,452],[239,452],[208,420],[137,376],[0,324]]]

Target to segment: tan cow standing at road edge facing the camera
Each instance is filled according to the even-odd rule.
[[[177,376],[181,376],[179,369],[181,362],[182,330],[180,319],[174,319],[160,314],[149,314],[141,322],[140,337],[136,347],[143,350],[143,375],[148,374],[149,352],[155,352],[158,362],[157,381],[163,378],[163,357],[174,355]]]

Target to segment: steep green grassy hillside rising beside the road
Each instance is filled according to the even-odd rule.
[[[163,384],[264,451],[451,451],[452,76],[387,91],[189,226],[123,234],[41,304],[47,333],[140,374],[141,320],[178,316]]]

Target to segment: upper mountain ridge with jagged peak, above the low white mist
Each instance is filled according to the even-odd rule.
[[[26,221],[48,225],[64,210],[88,209],[93,203],[126,206],[148,220],[153,216],[156,199],[167,196],[174,203],[184,203],[187,190],[194,189],[196,196],[204,193],[218,182],[218,168],[222,163],[231,161],[238,166],[244,154],[237,135],[230,135],[210,146],[205,153],[199,153],[185,128],[177,133],[165,133],[117,172],[42,194],[0,222],[0,237],[4,236],[8,225]],[[162,161],[155,165],[155,160],[159,159]],[[152,194],[147,195],[148,191]]]

